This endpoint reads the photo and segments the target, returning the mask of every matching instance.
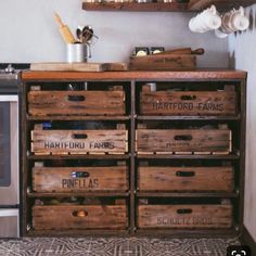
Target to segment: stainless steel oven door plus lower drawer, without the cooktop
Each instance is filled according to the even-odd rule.
[[[0,94],[0,238],[20,236],[18,97]]]

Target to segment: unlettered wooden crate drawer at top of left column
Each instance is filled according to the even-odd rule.
[[[33,116],[125,115],[125,91],[29,91]]]

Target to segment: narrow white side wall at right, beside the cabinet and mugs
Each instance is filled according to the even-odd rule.
[[[256,5],[248,8],[251,29],[229,38],[231,67],[248,72],[245,176],[245,227],[256,241]]]

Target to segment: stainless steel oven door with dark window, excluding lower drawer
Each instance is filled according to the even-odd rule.
[[[18,203],[17,95],[0,95],[0,207]]]

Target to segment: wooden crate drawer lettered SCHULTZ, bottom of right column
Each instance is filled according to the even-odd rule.
[[[232,227],[232,205],[139,205],[139,228],[221,229]]]

